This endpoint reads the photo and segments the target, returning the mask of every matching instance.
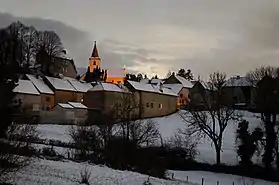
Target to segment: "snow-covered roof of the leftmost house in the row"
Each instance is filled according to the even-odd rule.
[[[14,88],[13,92],[40,95],[40,93],[30,80],[18,80],[18,86]]]

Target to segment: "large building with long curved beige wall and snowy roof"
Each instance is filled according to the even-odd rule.
[[[127,80],[125,86],[140,105],[141,118],[165,116],[177,110],[177,94],[162,83],[152,85]]]

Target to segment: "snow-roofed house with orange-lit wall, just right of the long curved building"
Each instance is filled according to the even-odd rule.
[[[169,78],[167,78],[164,82],[164,87],[170,88],[173,92],[175,92],[177,97],[177,107],[185,107],[190,102],[189,91],[193,87],[193,84],[179,76],[172,74]]]

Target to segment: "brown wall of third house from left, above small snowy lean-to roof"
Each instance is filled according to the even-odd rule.
[[[58,103],[68,103],[69,101],[77,102],[77,92],[73,91],[55,91],[55,98],[54,104],[57,105]]]

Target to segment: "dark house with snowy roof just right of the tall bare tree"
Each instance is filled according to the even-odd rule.
[[[224,83],[222,90],[226,105],[248,108],[254,104],[255,85],[247,77],[229,78]]]

